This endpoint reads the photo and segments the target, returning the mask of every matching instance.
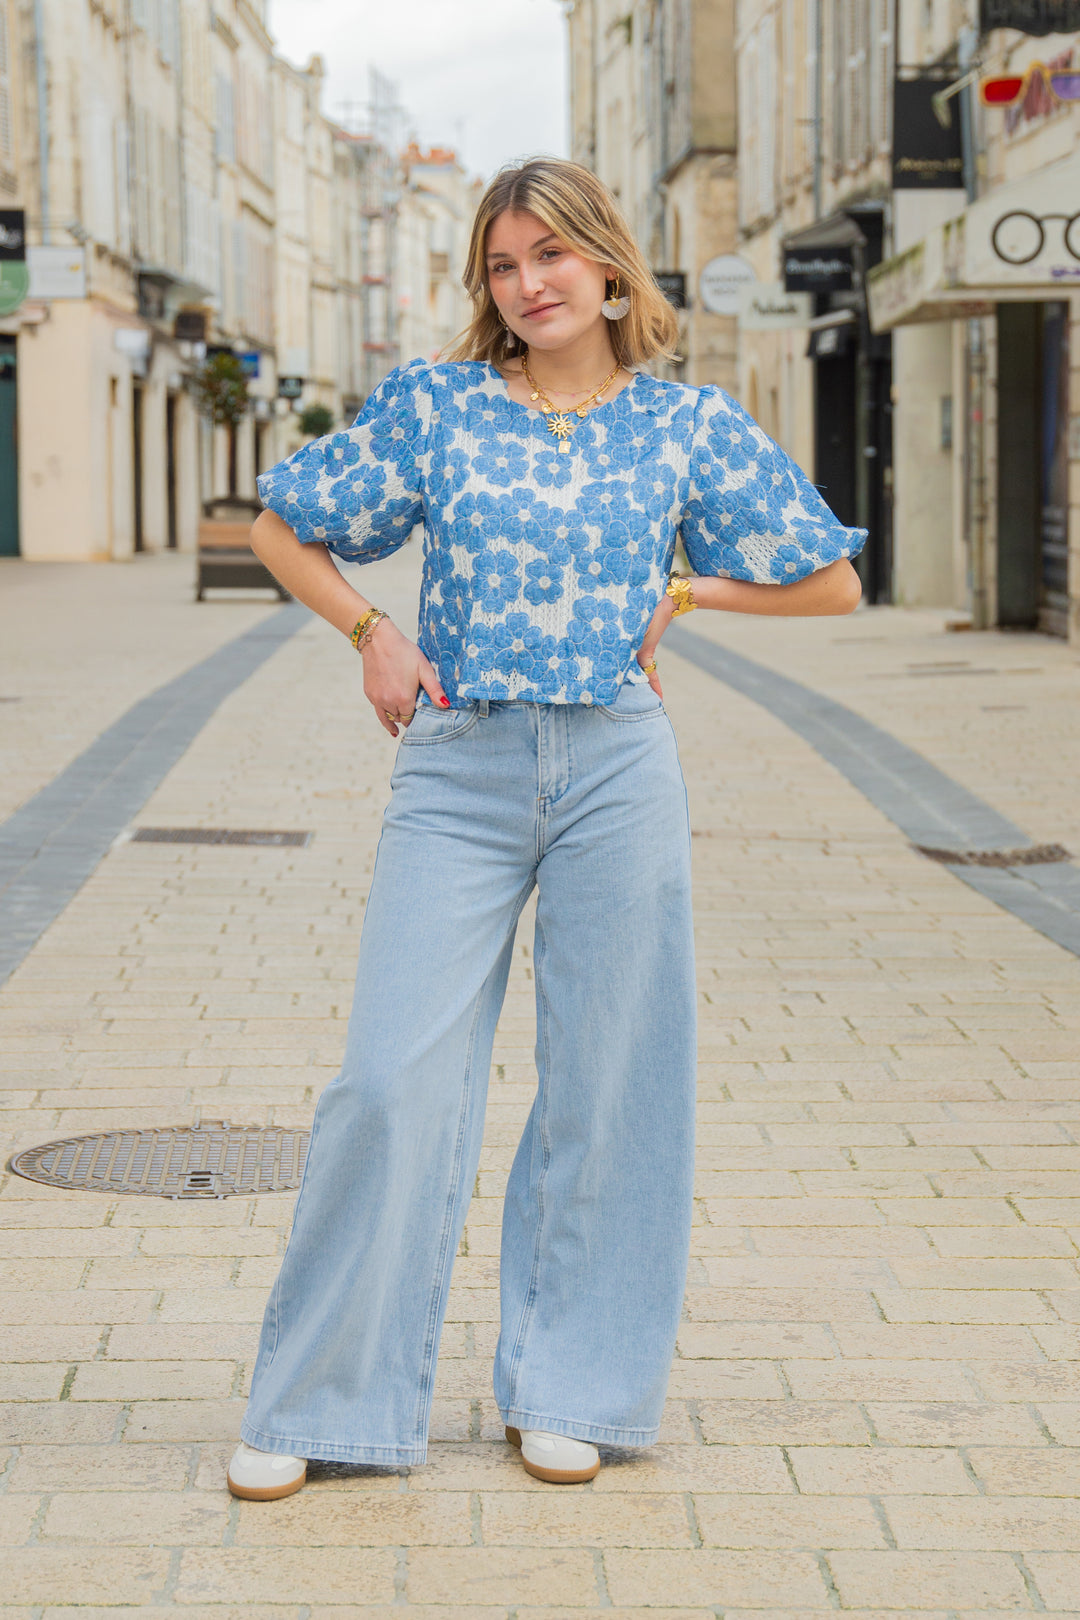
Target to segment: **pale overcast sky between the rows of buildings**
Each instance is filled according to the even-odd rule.
[[[484,178],[513,157],[567,156],[563,29],[559,0],[270,0],[279,52],[325,62],[325,113],[366,102],[377,68],[403,133],[457,147]]]

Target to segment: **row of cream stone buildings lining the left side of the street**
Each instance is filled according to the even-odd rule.
[[[0,554],[193,549],[303,407],[351,420],[403,347],[437,347],[460,165],[440,154],[447,199],[398,251],[406,172],[322,115],[322,79],[275,55],[266,0],[0,0],[0,217],[21,211],[29,272],[0,314]],[[248,376],[235,436],[196,408],[215,350]]]

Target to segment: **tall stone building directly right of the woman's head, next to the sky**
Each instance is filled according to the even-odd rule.
[[[680,314],[687,382],[735,386],[733,0],[565,0],[572,156],[620,199]]]

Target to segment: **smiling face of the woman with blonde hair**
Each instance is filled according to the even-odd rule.
[[[567,246],[536,214],[507,211],[487,230],[491,296],[529,348],[563,348],[602,322],[607,277],[607,266]]]

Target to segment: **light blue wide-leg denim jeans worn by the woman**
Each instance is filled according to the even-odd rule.
[[[538,889],[536,1068],[502,1223],[495,1400],[656,1440],[690,1241],[690,831],[656,693],[421,706],[392,778],[345,1063],[316,1110],[243,1437],[423,1463],[515,925]]]

